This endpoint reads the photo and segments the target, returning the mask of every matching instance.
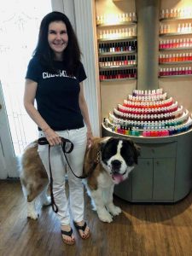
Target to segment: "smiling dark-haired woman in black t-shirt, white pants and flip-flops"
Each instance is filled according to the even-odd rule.
[[[59,209],[57,216],[61,221],[61,235],[67,244],[75,242],[69,210],[81,238],[90,236],[90,229],[84,222],[83,184],[70,171],[67,172],[67,201],[64,186],[66,161],[60,145],[60,137],[74,144],[72,153],[67,156],[73,172],[80,176],[85,148],[92,139],[84,100],[84,79],[86,74],[80,62],[79,44],[70,21],[60,12],[49,13],[41,22],[38,45],[27,68],[24,106],[38,125],[39,137],[46,137],[52,146],[50,162],[53,194]],[[34,107],[35,100],[37,108]],[[38,153],[49,176],[48,145],[39,145]]]

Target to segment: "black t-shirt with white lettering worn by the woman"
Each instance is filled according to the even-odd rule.
[[[38,83],[38,112],[55,131],[84,127],[79,108],[79,83],[86,79],[83,64],[79,62],[73,77],[67,75],[63,62],[55,61],[54,65],[58,72],[49,73],[42,67],[38,57],[33,57],[29,62],[26,79]]]

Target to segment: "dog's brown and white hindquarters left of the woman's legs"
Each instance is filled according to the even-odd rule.
[[[27,201],[27,217],[37,219],[37,201],[42,206],[50,205],[47,195],[49,179],[38,155],[38,141],[30,143],[20,160],[20,182]]]

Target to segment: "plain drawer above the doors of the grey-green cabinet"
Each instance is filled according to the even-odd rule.
[[[141,158],[176,157],[177,142],[138,145],[141,147]]]

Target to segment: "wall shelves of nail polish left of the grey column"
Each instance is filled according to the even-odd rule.
[[[134,12],[96,16],[101,81],[137,79],[136,23]]]

